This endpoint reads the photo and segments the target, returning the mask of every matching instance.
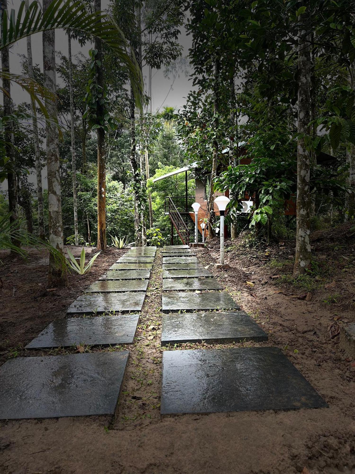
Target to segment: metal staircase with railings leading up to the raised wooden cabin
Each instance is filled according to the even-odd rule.
[[[195,224],[189,214],[193,202],[195,202],[194,196],[187,196],[187,198],[167,196],[165,198],[165,215],[169,216],[183,245],[194,242],[195,238]]]

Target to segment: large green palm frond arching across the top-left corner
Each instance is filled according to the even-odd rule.
[[[14,9],[4,12],[0,24],[0,50],[26,36],[56,28],[95,36],[111,48],[126,66],[136,104],[142,107],[142,72],[135,56],[130,57],[124,34],[113,18],[102,11],[88,12],[81,0],[53,0],[45,12],[39,8],[37,1],[33,1],[28,9],[25,9],[25,3],[21,2],[17,15]]]

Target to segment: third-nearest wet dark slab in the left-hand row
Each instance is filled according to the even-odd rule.
[[[89,293],[79,296],[69,306],[67,313],[96,314],[141,311],[144,292]]]

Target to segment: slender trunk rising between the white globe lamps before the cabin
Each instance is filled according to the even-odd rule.
[[[214,62],[214,85],[213,85],[213,125],[214,133],[217,133],[219,126],[219,75],[220,75],[220,58],[216,57]],[[214,192],[213,192],[213,181],[217,174],[217,155],[218,155],[218,140],[213,140],[213,155],[212,155],[212,170],[210,179],[210,198],[208,202],[208,238],[215,237],[215,233],[212,227],[213,223],[213,204],[214,204]]]

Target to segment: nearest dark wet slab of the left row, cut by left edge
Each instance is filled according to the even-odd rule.
[[[10,359],[0,367],[0,419],[113,415],[128,355]]]

